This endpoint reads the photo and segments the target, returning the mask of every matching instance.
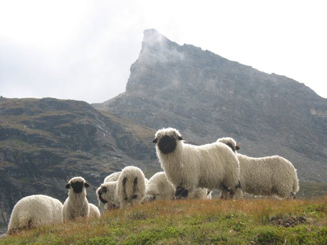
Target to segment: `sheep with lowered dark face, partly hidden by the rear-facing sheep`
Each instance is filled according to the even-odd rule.
[[[117,183],[118,181],[105,182],[97,189],[98,199],[105,204],[106,209],[117,208],[120,206],[116,196]]]

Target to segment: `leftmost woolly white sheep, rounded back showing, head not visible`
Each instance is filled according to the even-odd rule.
[[[62,203],[51,196],[23,197],[12,210],[8,234],[16,233],[24,228],[30,229],[51,223],[61,223],[61,212]]]

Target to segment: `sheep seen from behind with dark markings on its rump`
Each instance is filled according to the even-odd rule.
[[[116,195],[120,207],[141,203],[145,197],[145,177],[141,169],[125,167],[118,178]]]

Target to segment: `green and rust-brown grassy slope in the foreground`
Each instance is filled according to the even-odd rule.
[[[327,244],[327,196],[316,199],[155,201],[100,219],[46,226],[10,244]]]

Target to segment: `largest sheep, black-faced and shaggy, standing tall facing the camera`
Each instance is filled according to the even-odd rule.
[[[153,143],[168,180],[177,187],[222,190],[222,198],[242,196],[239,162],[233,151],[222,143],[194,146],[184,143],[178,130],[158,130]]]

